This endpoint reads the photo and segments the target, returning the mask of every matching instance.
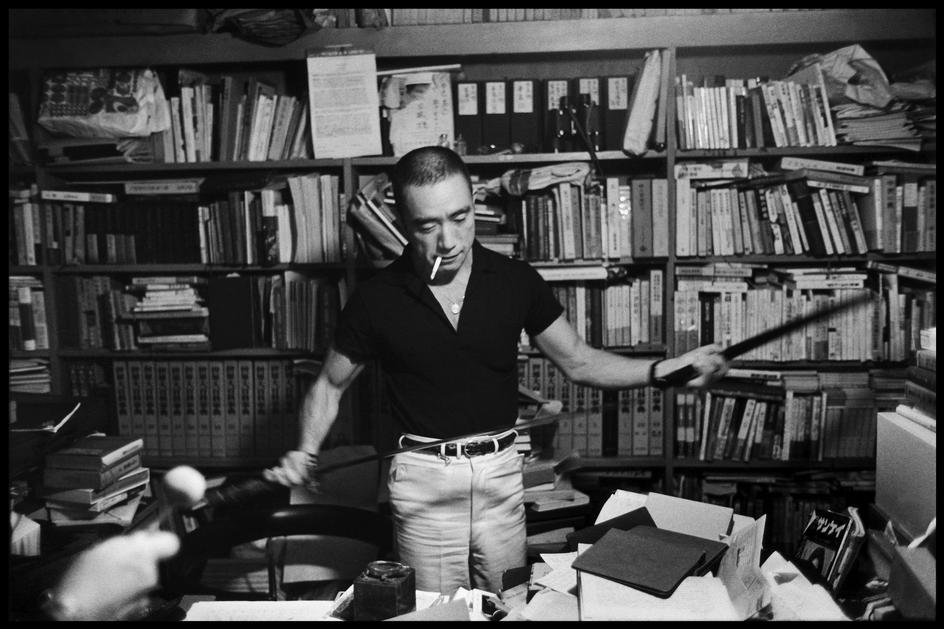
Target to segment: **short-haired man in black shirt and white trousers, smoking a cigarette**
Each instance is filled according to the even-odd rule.
[[[642,387],[692,365],[698,375],[689,384],[702,386],[727,365],[717,346],[661,361],[588,346],[537,271],[475,240],[469,173],[449,149],[404,155],[393,186],[409,244],[351,295],[302,402],[298,450],[266,477],[286,485],[306,481],[310,455],[317,455],[341,395],[367,361],[378,360],[401,445],[482,434],[391,461],[387,482],[401,561],[416,570],[421,590],[497,592],[504,570],[527,563],[512,430],[522,329],[583,385]]]

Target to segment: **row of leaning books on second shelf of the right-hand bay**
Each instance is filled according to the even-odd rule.
[[[748,160],[708,169],[676,166],[677,255],[936,249],[933,164],[873,161],[866,168],[785,157],[780,172],[744,179],[748,167]]]

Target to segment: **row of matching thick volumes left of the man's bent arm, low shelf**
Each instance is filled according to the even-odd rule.
[[[300,378],[285,359],[116,360],[118,434],[154,457],[277,458],[297,445]]]

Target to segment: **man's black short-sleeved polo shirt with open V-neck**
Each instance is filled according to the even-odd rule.
[[[531,266],[475,241],[453,329],[407,249],[358,285],[334,348],[355,363],[379,361],[401,430],[445,439],[514,424],[521,330],[539,334],[563,311]]]

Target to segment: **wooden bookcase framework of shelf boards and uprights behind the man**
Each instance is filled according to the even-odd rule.
[[[195,67],[212,69],[236,66],[259,66],[267,71],[284,70],[298,76],[304,67],[306,51],[311,48],[352,45],[372,49],[377,55],[378,69],[415,67],[438,63],[461,63],[462,76],[470,81],[489,79],[575,78],[591,73],[593,76],[638,75],[643,53],[659,48],[672,52],[672,76],[686,73],[690,76],[725,74],[727,76],[783,76],[793,62],[812,53],[825,53],[840,46],[859,43],[867,46],[886,72],[894,73],[930,58],[936,51],[936,32],[933,10],[885,9],[825,9],[815,11],[772,11],[751,13],[718,13],[704,16],[664,15],[606,20],[557,20],[540,22],[495,22],[480,24],[441,24],[422,26],[392,26],[376,29],[324,29],[285,46],[267,48],[252,45],[226,34],[167,35],[153,40],[155,45],[141,45],[140,38],[97,37],[94,40],[78,37],[58,39],[14,39],[11,41],[10,68],[30,78],[38,85],[45,68],[59,66],[98,67],[115,64],[148,65],[173,69]],[[150,38],[144,41],[148,44]],[[564,53],[564,54],[562,54]],[[299,92],[300,93],[300,92]],[[668,120],[673,121],[675,103],[669,99]],[[629,157],[619,150],[599,151],[597,157],[607,176],[633,178],[662,178],[667,180],[668,225],[676,220],[676,188],[674,172],[677,165],[714,161],[728,158],[747,158],[773,167],[784,156],[803,156],[825,160],[862,163],[872,159],[904,159],[933,162],[936,147],[919,154],[883,147],[835,146],[749,149],[679,149],[674,124],[668,125],[664,150],[648,151],[641,157]],[[469,155],[466,158],[473,174],[483,178],[495,177],[510,168],[534,168],[568,161],[589,161],[586,152],[528,153],[516,155]],[[98,180],[120,181],[126,178],[175,178],[183,176],[241,178],[260,173],[303,173],[330,171],[340,177],[342,189],[351,198],[362,177],[388,172],[395,159],[389,156],[368,156],[340,160],[296,159],[266,162],[200,162],[187,164],[107,164],[107,165],[39,165],[35,177],[41,185],[57,182],[74,183]],[[668,230],[668,253],[652,258],[607,262],[607,267],[629,268],[633,273],[659,270],[664,276],[663,333],[665,342],[653,346],[622,345],[616,351],[643,356],[672,355],[676,342],[675,329],[675,271],[681,264],[705,264],[714,261],[736,261],[761,265],[792,267],[846,264],[862,265],[869,261],[912,264],[932,268],[933,252],[876,253],[814,257],[809,255],[775,255],[755,253],[736,257],[683,257],[676,253],[676,233]],[[352,244],[352,243],[351,243]],[[352,244],[353,246],[353,244]],[[598,262],[598,264],[603,264]],[[544,262],[536,264],[543,266]],[[556,267],[560,264],[547,263]],[[566,265],[563,265],[566,266]],[[10,269],[11,274],[20,267]],[[118,274],[131,276],[150,273],[186,273],[210,275],[233,270],[251,274],[299,270],[310,274],[344,276],[352,285],[364,269],[353,258],[341,263],[322,265],[275,265],[265,268],[245,268],[238,265],[207,266],[203,264],[142,264],[114,265],[102,268],[96,265],[59,267],[41,264],[27,269],[39,273],[49,285],[57,278],[73,275]],[[47,295],[47,303],[54,304],[55,292]],[[76,360],[109,362],[124,359],[101,349],[74,349],[61,346],[54,339],[48,355],[51,358],[54,383],[62,390],[67,373],[64,363]],[[264,349],[228,350],[225,356],[279,356],[292,357],[291,352]],[[141,356],[145,356],[142,354]],[[209,352],[208,357],[224,356]],[[136,357],[136,356],[135,356]],[[177,357],[177,355],[173,355]],[[533,354],[523,352],[527,361]],[[879,363],[879,366],[884,363]],[[782,370],[863,371],[872,366],[862,361],[780,361],[746,360],[738,366]],[[369,380],[369,378],[363,378]],[[681,458],[676,454],[675,399],[673,392],[665,394],[665,423],[661,443],[662,454],[656,456],[587,456],[587,466],[616,471],[642,468],[653,472],[655,486],[674,491],[677,474],[721,472],[794,472],[809,467],[823,470],[859,470],[874,467],[866,457],[824,461],[752,460],[699,461]],[[604,399],[607,412],[614,412],[618,401]],[[382,406],[382,405],[381,405]],[[381,413],[375,398],[366,400],[371,413]],[[366,419],[360,435],[376,436]],[[357,433],[355,433],[357,434]],[[168,461],[179,462],[175,459]],[[214,459],[189,458],[189,462],[221,464]],[[247,461],[242,461],[247,463]]]

